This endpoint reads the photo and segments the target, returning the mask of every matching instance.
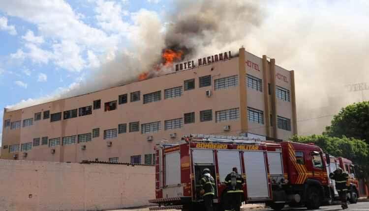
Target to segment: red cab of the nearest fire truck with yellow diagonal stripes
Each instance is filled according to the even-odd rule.
[[[267,205],[274,210],[282,209],[284,204],[318,209],[332,198],[325,158],[318,146],[285,141],[267,143],[267,148],[268,154],[281,150],[284,175],[284,181],[271,175],[273,201]],[[270,162],[269,168],[273,169],[273,165]]]

